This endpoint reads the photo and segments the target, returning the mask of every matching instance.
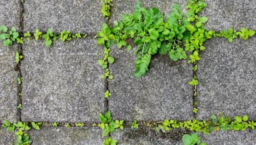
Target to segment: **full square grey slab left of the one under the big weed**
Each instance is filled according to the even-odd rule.
[[[103,53],[95,39],[57,41],[51,48],[43,41],[24,44],[22,121],[98,121],[104,79],[97,60]]]

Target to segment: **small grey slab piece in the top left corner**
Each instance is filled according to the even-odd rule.
[[[20,0],[0,1],[0,25],[7,25],[10,28],[15,26],[17,29],[19,29]]]

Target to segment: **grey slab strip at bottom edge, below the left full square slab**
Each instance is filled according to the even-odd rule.
[[[29,131],[33,145],[98,145],[104,142],[100,128],[88,127],[42,127]]]

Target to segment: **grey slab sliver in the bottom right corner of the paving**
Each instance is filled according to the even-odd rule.
[[[252,145],[256,142],[255,130],[246,130],[244,132],[227,131],[212,132],[209,135],[201,134],[201,141],[211,145]]]

